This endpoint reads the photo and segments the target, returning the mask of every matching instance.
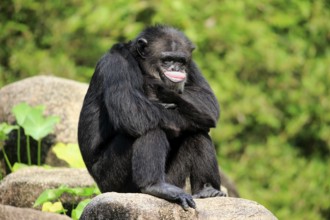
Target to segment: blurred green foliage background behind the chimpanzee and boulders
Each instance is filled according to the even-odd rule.
[[[330,1],[4,0],[0,87],[89,82],[112,44],[156,23],[197,46],[222,107],[219,163],[241,196],[279,219],[330,219]]]

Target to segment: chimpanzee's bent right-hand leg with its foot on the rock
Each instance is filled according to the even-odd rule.
[[[176,154],[172,156],[166,179],[182,187],[189,174],[195,198],[225,196],[220,190],[216,152],[206,132],[184,137]]]

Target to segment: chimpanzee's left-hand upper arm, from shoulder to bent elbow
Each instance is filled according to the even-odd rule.
[[[143,93],[142,72],[124,45],[115,45],[98,66],[104,103],[114,129],[141,136],[157,127],[160,112]]]

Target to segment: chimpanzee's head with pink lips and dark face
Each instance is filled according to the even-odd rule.
[[[183,92],[195,48],[183,33],[167,26],[150,27],[133,44],[144,74],[161,80],[168,88]]]

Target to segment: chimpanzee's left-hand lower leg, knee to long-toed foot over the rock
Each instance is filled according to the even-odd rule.
[[[148,131],[133,144],[133,182],[141,192],[179,203],[184,209],[195,208],[192,196],[165,181],[169,152],[166,134],[161,129]]]

